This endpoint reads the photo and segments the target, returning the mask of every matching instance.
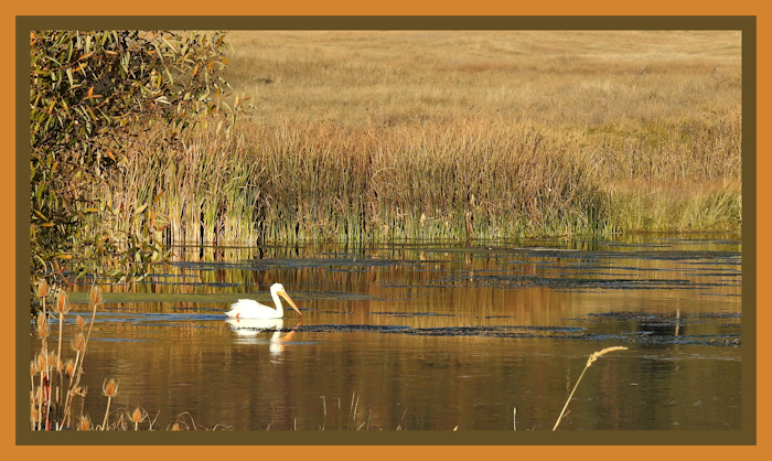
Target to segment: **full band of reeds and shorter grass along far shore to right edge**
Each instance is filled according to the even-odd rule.
[[[171,154],[133,152],[97,194],[108,210],[153,203],[168,243],[739,230],[739,125],[712,129],[652,141],[490,117],[245,124]]]

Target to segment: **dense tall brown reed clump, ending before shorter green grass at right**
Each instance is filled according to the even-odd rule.
[[[158,201],[172,242],[493,238],[602,226],[599,168],[570,137],[468,119],[395,129],[251,127],[200,133],[174,156],[137,153],[99,191],[108,207]]]

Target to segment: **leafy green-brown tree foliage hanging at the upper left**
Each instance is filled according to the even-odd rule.
[[[127,149],[153,121],[157,148],[212,117],[230,122],[225,101],[225,33],[35,31],[30,34],[30,243],[39,275],[65,266],[78,275],[141,278],[161,260],[152,203],[115,210],[95,185],[120,174]],[[232,124],[227,124],[227,127]],[[162,191],[157,191],[158,194]],[[150,201],[151,202],[151,201]],[[104,224],[128,218],[117,233]],[[86,232],[88,229],[88,232]],[[66,264],[63,264],[65,262]]]

